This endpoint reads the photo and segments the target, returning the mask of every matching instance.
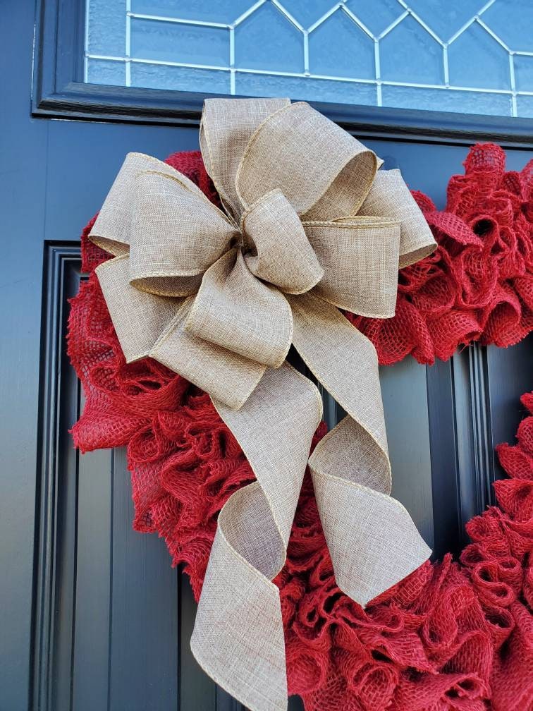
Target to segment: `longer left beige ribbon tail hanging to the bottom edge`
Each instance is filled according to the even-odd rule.
[[[322,415],[320,394],[290,365],[268,369],[240,410],[213,401],[257,481],[222,508],[190,646],[212,679],[252,711],[284,711],[287,685],[279,591]]]

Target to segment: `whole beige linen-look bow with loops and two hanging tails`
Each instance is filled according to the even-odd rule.
[[[394,315],[398,268],[435,248],[399,171],[306,103],[207,100],[206,169],[129,154],[91,232],[128,362],[149,355],[209,393],[257,481],[220,512],[193,653],[254,711],[286,709],[279,592],[307,464],[338,585],[365,605],[430,550],[389,496],[377,357],[339,309]],[[291,344],[348,416],[308,459],[322,415]]]

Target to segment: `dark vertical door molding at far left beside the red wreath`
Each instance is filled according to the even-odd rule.
[[[80,284],[79,242],[45,245],[44,265],[38,421],[38,461],[41,464],[36,496],[30,708],[53,711],[55,641],[59,634],[72,634],[72,629],[60,630],[55,622],[59,606],[56,597],[58,536],[60,527],[65,525],[60,511],[59,483],[62,471],[72,468],[77,471],[78,459],[72,442],[65,442],[65,422],[75,422],[79,414],[80,385],[68,363],[64,336],[68,299],[75,296]],[[63,494],[70,496],[72,491]],[[62,533],[69,535],[72,531]],[[74,570],[75,565],[71,563]]]

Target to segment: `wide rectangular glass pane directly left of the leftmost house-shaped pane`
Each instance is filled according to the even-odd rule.
[[[230,31],[131,18],[131,56],[227,67],[230,63]]]

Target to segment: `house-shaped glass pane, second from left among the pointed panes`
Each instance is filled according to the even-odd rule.
[[[309,35],[312,74],[375,79],[374,41],[338,9]]]

